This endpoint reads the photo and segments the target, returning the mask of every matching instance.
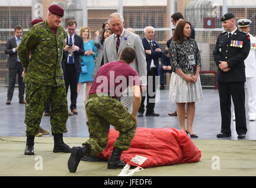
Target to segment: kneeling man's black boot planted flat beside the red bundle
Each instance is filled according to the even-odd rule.
[[[114,147],[112,155],[109,158],[109,162],[107,162],[108,169],[123,169],[126,166],[122,160],[120,160],[120,156],[122,155],[123,150],[118,147]]]

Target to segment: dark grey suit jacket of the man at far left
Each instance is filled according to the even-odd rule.
[[[9,69],[13,69],[17,61],[18,53],[17,51],[16,52],[12,51],[12,48],[16,48],[16,47],[17,47],[16,39],[13,36],[12,38],[9,38],[5,44],[5,54],[9,54],[8,61],[7,61],[7,66]]]

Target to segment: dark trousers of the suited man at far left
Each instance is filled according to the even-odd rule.
[[[9,69],[9,84],[7,90],[7,100],[12,100],[12,95],[14,95],[16,75],[18,75],[18,86],[19,86],[19,100],[24,100],[25,93],[25,83],[21,77],[23,72],[23,66],[21,62],[17,62],[14,68]]]

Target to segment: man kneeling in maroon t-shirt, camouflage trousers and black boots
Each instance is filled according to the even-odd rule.
[[[123,150],[128,150],[136,132],[136,114],[140,107],[140,79],[130,66],[136,56],[131,47],[123,49],[120,61],[107,63],[98,70],[86,102],[87,125],[90,139],[83,147],[73,147],[68,159],[68,170],[76,172],[84,155],[95,156],[107,146],[110,125],[119,131],[114,149],[107,163],[108,169],[122,169],[126,164],[120,160]],[[117,100],[123,90],[131,86],[133,90],[133,111]]]

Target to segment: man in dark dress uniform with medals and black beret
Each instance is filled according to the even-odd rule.
[[[231,96],[235,108],[235,127],[238,138],[247,133],[245,119],[245,65],[250,52],[250,36],[235,26],[235,15],[225,14],[221,18],[224,33],[218,36],[214,48],[214,61],[218,66],[217,82],[221,106],[221,133],[217,137],[231,136]]]

